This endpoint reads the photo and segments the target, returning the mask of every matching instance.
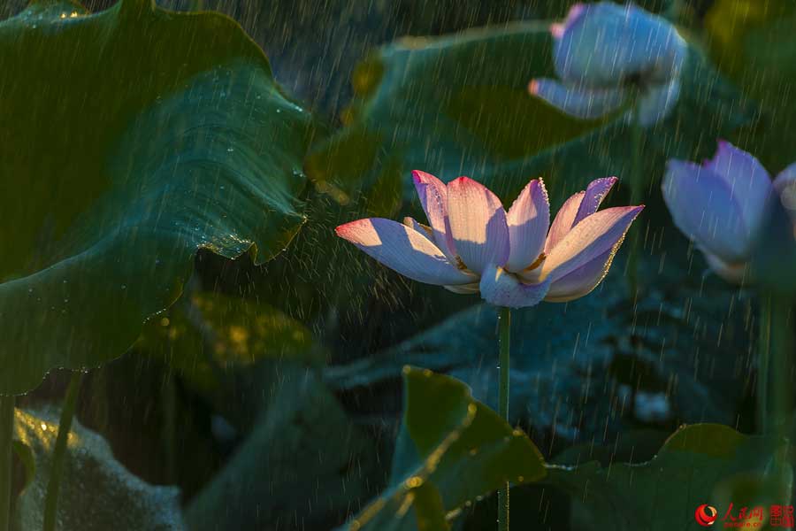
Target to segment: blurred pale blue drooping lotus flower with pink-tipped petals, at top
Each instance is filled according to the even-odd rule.
[[[642,127],[677,103],[687,49],[666,19],[631,4],[576,4],[550,31],[559,81],[532,80],[532,95],[582,119],[635,104]]]

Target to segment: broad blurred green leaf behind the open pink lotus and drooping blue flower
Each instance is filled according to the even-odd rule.
[[[346,127],[313,150],[310,177],[344,197],[363,192],[376,205],[390,204],[382,190],[395,185],[386,179],[400,180],[410,196],[415,168],[444,181],[471,175],[507,197],[542,175],[554,203],[593,178],[627,177],[631,131],[623,119],[573,119],[528,94],[532,78],[555,76],[551,50],[547,22],[379,49],[356,71]],[[750,119],[751,109],[696,49],[682,84],[674,112],[645,135],[647,179],[662,173],[667,157],[707,155],[717,136]]]

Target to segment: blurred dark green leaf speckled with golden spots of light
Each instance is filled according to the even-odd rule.
[[[301,322],[268,304],[209,291],[186,294],[158,315],[135,349],[171,366],[239,427],[249,427],[263,405],[264,362],[325,362]]]

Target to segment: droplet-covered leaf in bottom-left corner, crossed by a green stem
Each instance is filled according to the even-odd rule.
[[[33,451],[33,480],[17,498],[14,529],[42,527],[44,498],[57,437],[57,412],[17,410],[15,438]],[[65,481],[58,496],[57,529],[159,531],[184,529],[180,490],[149,485],[129,473],[96,433],[73,421]],[[28,466],[30,468],[30,466]]]

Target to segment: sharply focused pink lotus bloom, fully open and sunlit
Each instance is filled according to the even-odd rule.
[[[506,212],[494,193],[467,177],[446,186],[428,173],[412,175],[429,226],[368,218],[337,227],[337,235],[412,280],[480,292],[486,302],[509,308],[592,291],[643,208],[597,212],[616,182],[598,179],[563,204],[548,232],[550,205],[540,179]]]

